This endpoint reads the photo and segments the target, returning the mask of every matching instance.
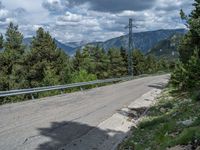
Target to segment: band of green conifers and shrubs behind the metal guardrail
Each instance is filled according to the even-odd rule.
[[[86,46],[75,56],[69,56],[43,28],[36,31],[30,46],[26,46],[18,26],[10,23],[6,34],[0,36],[0,91],[127,76],[127,57],[124,48],[106,51],[98,46]],[[169,71],[174,66],[166,60],[145,56],[140,50],[133,51],[133,60],[134,75]],[[34,97],[59,93],[45,92],[34,94]],[[31,96],[0,98],[0,104],[27,99]]]

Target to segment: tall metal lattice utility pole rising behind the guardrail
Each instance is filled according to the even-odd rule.
[[[129,29],[129,41],[128,41],[128,75],[133,76],[133,19],[129,19],[129,25],[125,27]]]

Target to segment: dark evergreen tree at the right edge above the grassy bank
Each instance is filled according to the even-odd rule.
[[[195,0],[194,10],[186,16],[181,10],[181,17],[189,28],[180,46],[180,60],[171,76],[173,85],[181,90],[199,89],[200,86],[200,1]]]

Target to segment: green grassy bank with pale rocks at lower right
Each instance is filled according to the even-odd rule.
[[[199,92],[183,93],[168,88],[119,149],[165,150],[188,144],[194,149],[200,146]]]

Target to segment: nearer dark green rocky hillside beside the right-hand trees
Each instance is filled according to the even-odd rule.
[[[182,37],[182,34],[176,33],[168,39],[161,40],[153,46],[147,55],[164,59],[177,59],[179,57],[178,46]]]

